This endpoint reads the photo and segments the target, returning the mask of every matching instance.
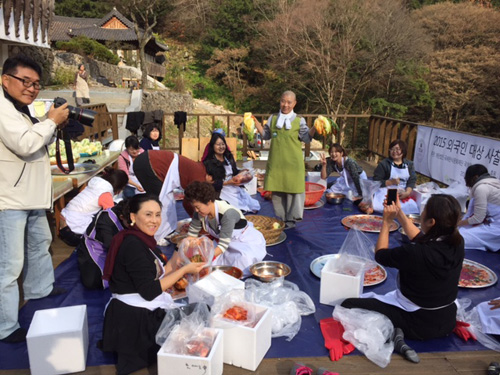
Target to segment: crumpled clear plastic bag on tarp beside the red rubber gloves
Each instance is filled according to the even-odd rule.
[[[333,318],[344,326],[343,338],[376,365],[384,368],[394,351],[394,326],[383,314],[365,309],[335,306]]]

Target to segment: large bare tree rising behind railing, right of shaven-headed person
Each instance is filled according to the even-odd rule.
[[[268,64],[333,116],[348,113],[398,59],[421,51],[422,33],[397,0],[298,0],[275,11],[258,28]]]

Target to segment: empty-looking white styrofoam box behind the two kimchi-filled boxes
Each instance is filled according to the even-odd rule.
[[[221,270],[215,270],[188,288],[189,303],[204,302],[212,306],[215,299],[233,289],[245,289],[245,283]]]

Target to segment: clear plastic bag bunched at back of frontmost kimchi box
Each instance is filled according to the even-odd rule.
[[[172,330],[184,319],[196,327],[208,327],[210,323],[210,310],[208,305],[204,303],[191,303],[175,309],[168,309],[165,312],[165,317],[156,332],[156,343],[160,346],[167,340]]]

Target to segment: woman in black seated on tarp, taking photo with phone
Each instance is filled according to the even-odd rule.
[[[377,311],[395,329],[394,350],[418,362],[403,337],[427,340],[444,337],[455,328],[458,280],[464,259],[464,241],[458,232],[460,205],[444,194],[433,195],[422,213],[422,232],[401,210],[399,199],[385,206],[382,229],[375,246],[375,260],[399,270],[398,289],[386,295],[367,293],[349,298],[342,306]],[[397,219],[414,243],[388,249],[389,227]]]

